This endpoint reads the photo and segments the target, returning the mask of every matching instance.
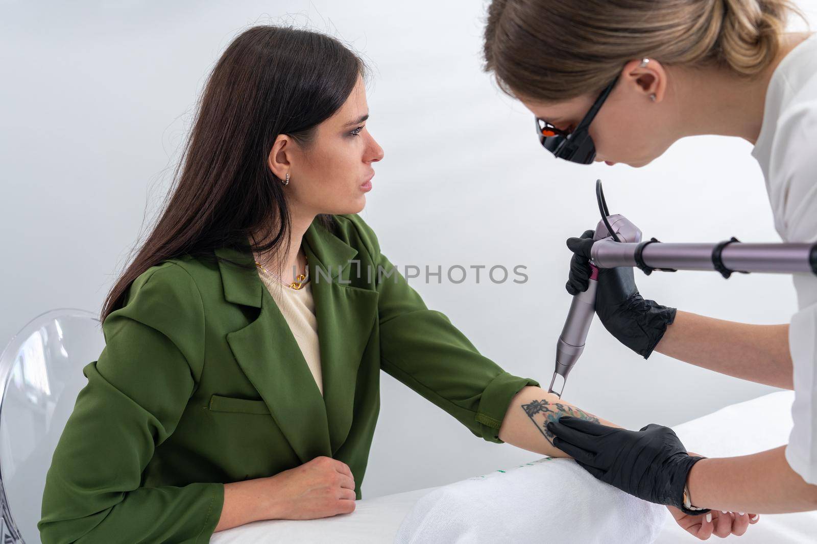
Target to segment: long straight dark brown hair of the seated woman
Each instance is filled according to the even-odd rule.
[[[367,72],[359,55],[324,33],[264,24],[239,34],[208,76],[174,171],[175,187],[110,290],[100,321],[122,306],[142,272],[164,260],[190,254],[215,262],[220,258],[213,250],[246,248],[251,232],[270,240],[253,243],[253,251],[279,253],[285,244],[288,253],[288,202],[267,164],[275,138],[286,134],[310,148],[319,123],[341,108]],[[333,228],[332,215],[319,215],[319,221]]]

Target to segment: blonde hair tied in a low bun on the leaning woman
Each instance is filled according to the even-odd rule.
[[[493,0],[484,70],[516,98],[598,92],[630,60],[717,65],[744,77],[775,59],[790,0]]]

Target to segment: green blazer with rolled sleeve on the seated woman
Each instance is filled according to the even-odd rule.
[[[255,268],[190,255],[159,263],[105,319],[105,348],[83,368],[88,383],[47,473],[44,544],[208,542],[223,484],[321,455],[349,465],[361,498],[381,369],[502,443],[511,398],[539,383],[428,309],[359,215],[335,218],[336,232],[316,219],[303,240],[324,396]],[[253,262],[248,245],[214,253]]]

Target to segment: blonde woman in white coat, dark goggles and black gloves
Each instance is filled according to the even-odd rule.
[[[534,113],[544,147],[580,164],[644,166],[692,135],[754,144],[784,241],[817,241],[817,36],[786,33],[785,0],[494,0],[485,68]],[[592,231],[570,238],[567,289],[587,289]],[[815,255],[817,261],[817,255]],[[601,271],[596,312],[634,352],[795,391],[789,444],[690,458],[666,427],[560,418],[555,445],[653,502],[718,511],[817,509],[817,278],[794,277],[788,325],[745,325],[641,297],[632,268]],[[672,384],[667,384],[672,387]],[[763,429],[758,429],[763,432]],[[725,535],[719,535],[725,536]]]

